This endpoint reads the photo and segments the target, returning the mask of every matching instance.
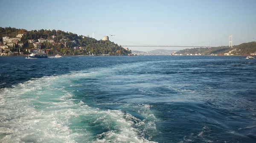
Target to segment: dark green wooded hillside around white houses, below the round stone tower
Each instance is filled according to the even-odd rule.
[[[56,53],[67,54],[67,55],[88,55],[94,53],[96,55],[109,54],[109,55],[128,55],[131,53],[131,50],[125,50],[120,45],[115,44],[111,41],[96,40],[90,38],[89,36],[78,36],[71,32],[67,33],[60,30],[32,30],[26,31],[25,29],[17,28],[1,28],[0,27],[0,42],[3,45],[3,37],[15,37],[17,34],[23,34],[21,41],[23,42],[23,48],[20,51],[26,53],[25,49],[33,48],[33,44],[29,43],[29,39],[34,39],[35,42],[38,42],[38,39],[52,39],[52,36],[55,35],[55,43],[43,42],[41,43],[41,49],[51,49]],[[66,39],[64,42],[61,42],[61,39]],[[74,47],[82,47],[75,49]],[[12,51],[18,51],[18,46],[11,48]]]

